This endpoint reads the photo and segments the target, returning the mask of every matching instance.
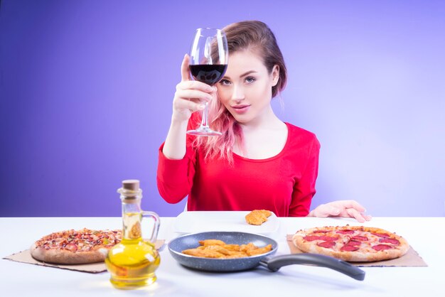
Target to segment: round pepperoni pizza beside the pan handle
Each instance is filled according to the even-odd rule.
[[[302,229],[292,241],[302,252],[323,254],[344,261],[382,261],[402,257],[409,244],[384,229],[364,226],[330,226]]]

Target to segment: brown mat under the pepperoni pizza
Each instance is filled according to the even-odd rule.
[[[289,249],[291,250],[291,254],[301,254],[302,252],[295,247],[294,242],[292,242],[292,237],[294,234],[287,234],[287,244],[289,245]],[[428,266],[425,263],[424,259],[417,254],[416,251],[412,247],[409,247],[407,254],[404,254],[402,257],[391,260],[384,261],[375,261],[375,262],[349,262],[354,266],[358,267],[403,267],[403,266]]]

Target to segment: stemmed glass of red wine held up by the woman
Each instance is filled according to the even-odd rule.
[[[227,70],[227,37],[220,29],[200,28],[196,30],[190,50],[191,75],[195,80],[215,85],[223,78]],[[208,126],[208,102],[205,102],[203,119],[198,129],[187,131],[197,136],[220,136]]]

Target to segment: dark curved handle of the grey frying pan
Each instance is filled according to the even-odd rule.
[[[263,259],[259,262],[259,265],[272,271],[278,271],[278,269],[282,268],[283,266],[291,264],[313,264],[336,270],[342,274],[352,277],[353,279],[357,279],[358,281],[363,281],[363,279],[365,279],[365,271],[362,269],[359,269],[346,261],[321,254],[289,254],[277,256],[272,259]]]

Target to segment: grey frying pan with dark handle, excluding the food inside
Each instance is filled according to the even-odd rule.
[[[257,247],[264,247],[267,244],[272,244],[272,250],[265,254],[237,259],[201,258],[182,253],[184,249],[194,249],[195,247],[199,247],[199,241],[204,239],[220,239],[226,244],[247,244],[252,242]],[[312,264],[336,270],[353,279],[357,279],[358,281],[363,281],[363,279],[365,279],[365,271],[348,262],[333,257],[319,254],[288,254],[270,257],[277,252],[277,249],[278,243],[274,239],[259,234],[245,232],[200,232],[177,237],[168,243],[168,250],[173,258],[183,266],[192,269],[229,272],[243,271],[252,269],[256,266],[263,266],[271,271],[278,271],[282,266],[291,264]]]

